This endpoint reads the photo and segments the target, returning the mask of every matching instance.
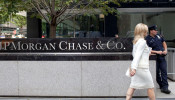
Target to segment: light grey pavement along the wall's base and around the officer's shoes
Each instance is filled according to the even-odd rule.
[[[168,80],[171,94],[164,94],[156,88],[156,100],[175,100],[175,82]],[[125,100],[125,98],[42,98],[42,97],[0,97],[0,100]],[[148,98],[132,98],[132,100],[149,100]]]

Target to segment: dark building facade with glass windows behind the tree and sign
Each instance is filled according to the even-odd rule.
[[[175,0],[144,0],[121,3],[121,6],[112,4],[110,6],[118,9],[118,17],[111,14],[108,16],[97,14],[95,17],[78,16],[59,24],[57,37],[95,38],[114,37],[116,34],[120,37],[132,37],[135,25],[145,23],[148,26],[157,25],[159,33],[166,40],[175,39]],[[47,23],[42,24],[41,28],[41,20],[31,20],[29,17],[27,20],[28,38],[38,38],[42,34],[49,34]],[[96,35],[93,36],[91,33]],[[173,46],[174,44],[168,43],[168,45]]]

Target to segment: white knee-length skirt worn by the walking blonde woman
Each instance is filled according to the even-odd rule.
[[[149,69],[138,68],[136,74],[131,77],[130,88],[148,89],[154,88],[153,79]]]

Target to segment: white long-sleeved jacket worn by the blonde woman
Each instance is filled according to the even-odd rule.
[[[139,39],[136,44],[133,45],[133,60],[131,63],[132,69],[137,68],[149,68],[149,54],[151,48],[148,47],[144,39]]]

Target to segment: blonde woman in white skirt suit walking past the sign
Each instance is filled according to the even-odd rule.
[[[148,26],[139,23],[134,30],[133,40],[133,61],[131,63],[131,84],[126,94],[126,100],[131,100],[135,89],[148,89],[148,97],[155,100],[154,83],[149,71],[149,55],[151,49],[147,46],[145,37],[147,36]]]

